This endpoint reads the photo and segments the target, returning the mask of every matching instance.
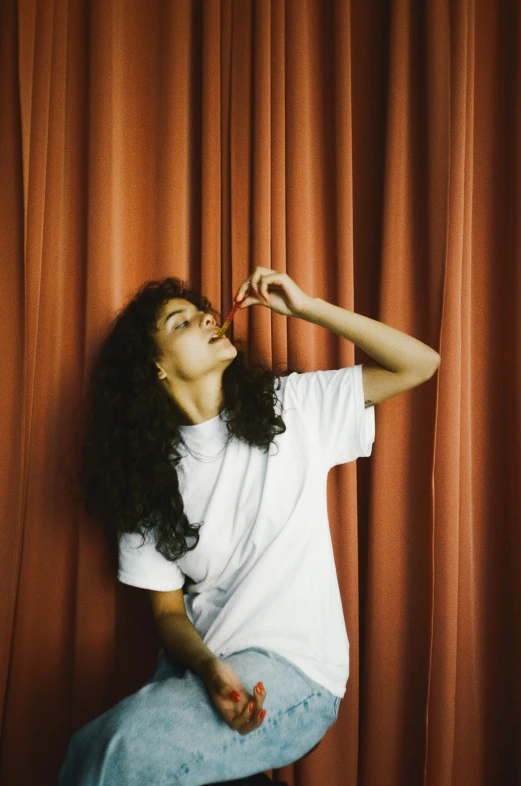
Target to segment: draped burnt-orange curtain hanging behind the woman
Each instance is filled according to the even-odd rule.
[[[290,786],[521,783],[521,6],[0,0],[0,780],[160,646],[67,487],[93,348],[149,279],[224,314],[257,265],[441,355],[331,470],[350,638],[339,719]],[[517,219],[517,220],[516,220]],[[271,367],[368,358],[266,308]]]

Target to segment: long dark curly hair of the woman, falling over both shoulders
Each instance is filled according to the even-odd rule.
[[[176,470],[182,458],[182,413],[154,363],[160,309],[172,298],[188,300],[220,324],[210,301],[173,277],[146,282],[117,312],[88,381],[76,480],[79,501],[101,522],[113,547],[123,533],[139,533],[144,542],[154,529],[156,550],[174,561],[196,548],[204,522],[190,524],[184,512]],[[278,377],[290,373],[289,368],[277,373],[250,366],[237,350],[222,377],[228,440],[269,450],[286,430],[275,412],[275,384],[279,389]]]

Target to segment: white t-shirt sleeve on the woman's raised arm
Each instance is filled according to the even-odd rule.
[[[364,406],[362,364],[328,371],[294,372],[288,376],[286,385],[289,405],[293,403],[302,412],[329,468],[371,455],[375,415],[374,405]]]

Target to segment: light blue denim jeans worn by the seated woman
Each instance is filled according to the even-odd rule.
[[[201,786],[293,764],[338,717],[340,699],[285,658],[250,647],[224,656],[253,691],[262,725],[231,729],[200,677],[167,654],[140,690],[73,734],[58,786]]]

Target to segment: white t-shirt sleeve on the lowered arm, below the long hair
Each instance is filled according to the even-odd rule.
[[[175,562],[156,551],[152,531],[145,533],[145,542],[138,533],[125,532],[119,538],[118,580],[143,589],[170,592],[185,583],[185,574]]]

